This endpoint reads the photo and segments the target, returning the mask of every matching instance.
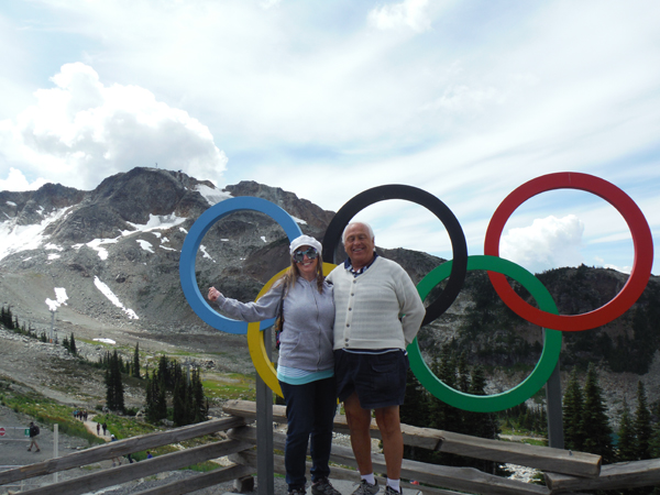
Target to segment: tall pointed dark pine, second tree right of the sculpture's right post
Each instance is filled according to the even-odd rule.
[[[612,428],[605,414],[605,404],[598,386],[596,367],[590,363],[584,383],[582,430],[585,433],[584,451],[603,457],[603,463],[614,462]]]

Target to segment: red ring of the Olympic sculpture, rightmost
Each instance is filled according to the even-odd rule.
[[[622,316],[635,304],[649,282],[653,264],[653,239],[649,224],[637,204],[618,187],[593,175],[575,172],[561,172],[531,179],[509,194],[493,213],[486,230],[484,253],[499,256],[502,231],[516,208],[529,198],[553,189],[580,189],[592,193],[609,202],[622,213],[630,229],[635,246],[632,272],[630,272],[630,277],[624,288],[614,299],[593,311],[574,316],[552,315],[522,300],[504,275],[488,272],[488,277],[504,304],[531,323],[569,332],[601,327]]]

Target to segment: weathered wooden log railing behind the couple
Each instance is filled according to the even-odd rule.
[[[183,440],[217,431],[227,431],[228,440],[158,455],[139,464],[128,464],[23,493],[44,495],[82,494],[226,455],[233,464],[210,473],[189,477],[183,482],[140,492],[140,495],[156,493],[184,494],[226,481],[241,479],[255,473],[261,455],[272,455],[274,472],[284,474],[284,459],[282,455],[275,454],[274,450],[284,450],[286,436],[275,431],[272,435],[272,448],[265,451],[260,444],[255,449],[258,437],[257,429],[254,426],[254,419],[257,417],[255,403],[234,400],[227,403],[223,409],[230,415],[229,418],[120,440],[63,458],[0,472],[0,485],[78,468],[113,457],[154,449],[160,446],[178,443]],[[286,424],[284,406],[273,406],[273,421]],[[334,429],[338,432],[348,432],[345,417],[336,417]],[[584,452],[486,440],[407,425],[403,426],[403,432],[407,446],[535,468],[544,473],[547,483],[547,486],[541,486],[487,474],[472,468],[452,468],[404,460],[402,477],[417,480],[422,485],[403,483],[403,486],[413,491],[421,491],[425,494],[457,495],[458,492],[454,491],[460,491],[462,493],[488,495],[551,495],[660,484],[660,460],[601,466],[598,455]],[[372,426],[372,436],[378,438],[378,435],[375,425]],[[330,459],[333,463],[333,479],[359,481],[359,475],[354,470],[356,466],[355,461],[350,448],[333,444]],[[385,460],[382,454],[373,454],[373,464],[375,472],[385,473]],[[268,476],[272,480],[273,473],[270,473]]]

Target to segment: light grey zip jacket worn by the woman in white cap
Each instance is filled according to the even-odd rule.
[[[277,316],[282,292],[283,285],[276,284],[256,301],[241,302],[221,295],[217,304],[230,318],[262,321]],[[316,279],[298,277],[284,297],[278,364],[309,372],[334,367],[333,323],[332,286],[323,282],[323,293],[319,294]]]

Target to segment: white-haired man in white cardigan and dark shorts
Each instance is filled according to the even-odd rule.
[[[334,285],[334,375],[344,403],[351,447],[362,481],[353,495],[374,495],[371,459],[372,409],[383,438],[386,495],[400,494],[404,458],[399,406],[406,393],[408,356],[425,316],[408,274],[375,252],[373,230],[350,223],[343,232],[349,258],[328,276]]]

